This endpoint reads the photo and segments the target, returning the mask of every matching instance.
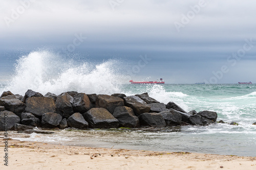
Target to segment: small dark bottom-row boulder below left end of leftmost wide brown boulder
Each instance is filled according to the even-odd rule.
[[[22,124],[32,127],[41,127],[41,121],[32,113],[22,113]]]

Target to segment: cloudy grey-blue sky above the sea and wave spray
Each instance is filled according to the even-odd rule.
[[[15,59],[45,49],[84,61],[120,60],[134,80],[256,83],[255,1],[0,4],[0,79],[13,70]]]

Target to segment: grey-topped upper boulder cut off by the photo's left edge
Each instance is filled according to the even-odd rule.
[[[20,113],[25,111],[26,104],[18,100],[15,95],[7,95],[0,99],[0,106],[11,111],[20,117]]]

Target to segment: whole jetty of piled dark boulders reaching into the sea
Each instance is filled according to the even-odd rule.
[[[138,128],[200,125],[217,120],[213,111],[186,112],[174,102],[160,103],[147,93],[126,96],[86,94],[76,91],[60,95],[28,90],[24,96],[5,91],[0,98],[0,131],[33,132],[42,128]],[[7,120],[8,119],[8,120]],[[4,126],[8,121],[8,126]]]

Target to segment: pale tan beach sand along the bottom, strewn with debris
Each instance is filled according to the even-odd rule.
[[[88,148],[17,140],[9,140],[8,144],[8,167],[1,161],[0,169],[256,169],[256,157]],[[0,150],[2,157],[3,144]]]

